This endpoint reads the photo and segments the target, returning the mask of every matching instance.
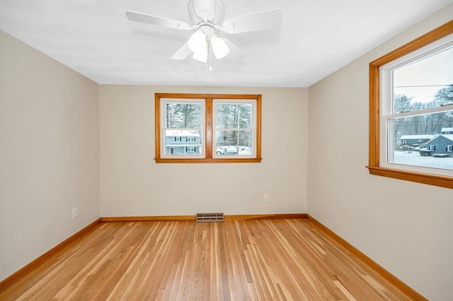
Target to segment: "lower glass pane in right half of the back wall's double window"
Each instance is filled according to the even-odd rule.
[[[217,155],[251,155],[252,131],[217,131]]]

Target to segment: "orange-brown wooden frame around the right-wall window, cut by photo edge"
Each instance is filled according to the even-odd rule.
[[[423,172],[411,172],[396,170],[379,166],[379,128],[380,128],[380,98],[379,98],[379,67],[388,64],[395,59],[414,52],[421,47],[430,45],[432,42],[442,39],[453,33],[453,20],[441,25],[435,30],[408,42],[388,54],[369,63],[369,162],[368,170],[371,175],[403,179],[411,182],[430,184],[439,187],[453,189],[453,177],[434,175]]]

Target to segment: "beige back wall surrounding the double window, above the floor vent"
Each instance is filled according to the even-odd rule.
[[[101,216],[306,212],[306,88],[101,85],[99,90]],[[262,163],[156,164],[156,92],[262,94]]]

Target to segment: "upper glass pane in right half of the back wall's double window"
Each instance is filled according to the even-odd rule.
[[[252,126],[252,105],[241,103],[218,103],[217,129],[250,129]]]

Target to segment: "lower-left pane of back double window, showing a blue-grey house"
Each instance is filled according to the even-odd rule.
[[[165,155],[201,155],[202,132],[167,129],[165,131]]]

